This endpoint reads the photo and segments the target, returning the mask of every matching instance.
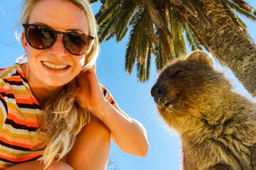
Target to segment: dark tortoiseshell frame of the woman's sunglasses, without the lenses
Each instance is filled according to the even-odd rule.
[[[54,45],[55,41],[57,40],[57,35],[58,34],[61,34],[63,35],[63,45],[65,47],[65,50],[68,50],[68,52],[72,55],[84,55],[88,49],[90,49],[90,46],[92,45],[92,41],[95,39],[94,37],[92,37],[91,35],[87,35],[85,33],[79,33],[78,31],[68,31],[68,32],[63,32],[63,31],[59,31],[59,30],[54,30],[53,28],[50,28],[49,26],[44,26],[43,24],[36,24],[36,23],[23,23],[22,24],[23,28],[25,29],[25,37],[26,37],[26,40],[28,42],[29,45],[31,45],[31,42],[29,42],[29,38],[28,38],[28,28],[31,27],[31,26],[41,26],[41,27],[44,27],[44,28],[48,28],[49,30],[53,31],[54,33],[54,38],[53,38],[53,42],[48,46],[48,47],[43,47],[43,48],[38,48],[38,47],[34,47],[33,45],[31,45],[31,47],[37,49],[37,50],[46,50],[47,48],[51,47]],[[85,36],[85,38],[87,38],[87,40],[90,40],[90,43],[87,47],[87,49],[85,50],[85,52],[83,52],[82,54],[75,54],[73,52],[70,52],[70,50],[68,49],[68,47],[66,47],[65,45],[65,38],[64,36],[68,36],[68,34],[70,33],[78,33],[82,36]]]

